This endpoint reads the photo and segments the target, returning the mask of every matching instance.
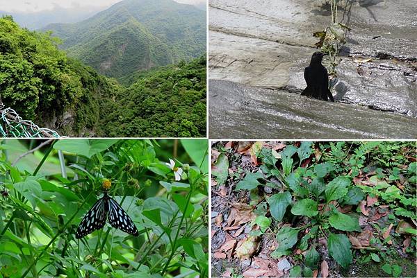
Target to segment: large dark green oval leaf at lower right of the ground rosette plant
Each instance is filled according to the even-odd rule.
[[[352,245],[344,234],[330,233],[327,239],[327,248],[330,256],[343,268],[347,268],[352,263]]]

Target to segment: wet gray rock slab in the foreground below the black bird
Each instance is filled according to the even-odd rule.
[[[211,138],[417,138],[417,119],[283,90],[210,80]]]

